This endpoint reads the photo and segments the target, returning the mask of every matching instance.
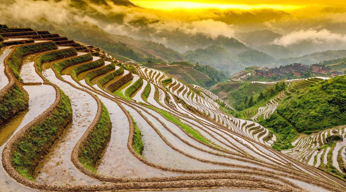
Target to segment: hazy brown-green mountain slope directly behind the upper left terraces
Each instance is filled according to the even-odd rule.
[[[147,61],[149,57],[157,59],[157,61],[183,60],[180,53],[162,44],[109,34],[90,23],[74,23],[70,25],[73,25],[73,27],[57,26],[56,28],[59,28],[57,33],[72,37],[79,42],[101,47],[109,53],[126,56],[137,62]]]

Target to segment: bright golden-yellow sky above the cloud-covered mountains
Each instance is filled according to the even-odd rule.
[[[323,7],[346,7],[344,0],[131,0],[131,2],[153,9],[199,9],[199,8],[219,8],[219,9],[279,9],[290,10],[309,6]]]

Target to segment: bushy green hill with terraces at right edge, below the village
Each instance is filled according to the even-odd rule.
[[[313,130],[321,130],[325,129],[325,127],[331,127],[336,125],[343,125],[344,117],[336,115],[338,118],[335,119],[335,117],[332,117],[330,114],[338,114],[338,110],[336,106],[333,106],[331,108],[334,109],[333,112],[330,112],[330,110],[327,110],[327,106],[323,106],[326,103],[321,103],[319,101],[319,97],[325,98],[323,94],[329,94],[330,97],[333,97],[330,93],[321,93],[318,92],[317,90],[314,90],[312,94],[317,94],[314,98],[317,99],[318,101],[313,101],[313,103],[318,103],[318,106],[321,107],[319,109],[316,109],[309,106],[306,107],[304,110],[309,110],[307,113],[310,113],[309,115],[315,114],[315,117],[313,117],[314,120],[307,120],[307,125],[303,125],[303,120],[307,117],[307,114],[303,114],[298,112],[298,116],[303,116],[299,117],[301,122],[295,122],[291,118],[288,118],[289,115],[293,115],[295,119],[297,119],[297,112],[292,111],[295,110],[292,108],[292,106],[289,107],[289,110],[291,112],[283,114],[282,109],[280,109],[280,114],[279,112],[276,113],[276,108],[279,106],[279,103],[281,103],[281,108],[284,107],[285,103],[289,101],[290,103],[297,103],[297,99],[294,101],[291,101],[290,98],[297,98],[301,99],[302,103],[307,104],[306,100],[303,100],[302,95],[308,95],[311,93],[309,92],[309,89],[319,89],[319,86],[327,86],[331,83],[330,86],[333,87],[331,88],[326,88],[322,90],[329,90],[330,92],[336,93],[339,88],[339,85],[343,86],[342,83],[340,84],[340,80],[343,80],[342,76],[339,77],[333,77],[333,79],[330,79],[329,77],[310,77],[308,79],[296,79],[296,80],[290,80],[289,86],[284,90],[281,91],[279,94],[277,94],[273,99],[269,100],[265,106],[259,107],[259,106],[254,106],[252,108],[249,108],[245,111],[242,111],[244,113],[244,117],[260,122],[262,125],[270,125],[271,130],[275,130],[275,134],[277,135],[277,140],[283,143],[282,145],[278,145],[277,143],[273,145],[275,149],[281,149],[281,152],[289,155],[290,157],[296,159],[297,161],[306,163],[311,166],[315,166],[316,168],[319,168],[320,170],[324,170],[326,172],[330,172],[331,174],[334,174],[335,176],[345,179],[346,177],[346,169],[345,169],[345,152],[346,152],[346,135],[345,131],[346,129],[345,126],[337,126],[334,128],[329,128],[323,131],[313,131]],[[328,81],[326,81],[328,80]],[[268,82],[261,82],[264,84],[273,84],[276,82],[268,83]],[[318,86],[313,86],[313,85],[318,85]],[[343,89],[342,89],[343,90]],[[337,94],[339,97],[343,97],[343,94]],[[308,96],[306,96],[308,97]],[[283,103],[281,102],[282,99],[286,99]],[[331,99],[334,100],[334,99]],[[330,103],[332,104],[332,103]],[[318,112],[321,111],[322,109],[327,110],[329,112],[324,112],[324,116],[327,116],[329,119],[321,118],[318,117],[319,114]],[[312,110],[312,112],[310,111]],[[341,109],[342,110],[342,109]],[[274,118],[269,118],[273,113],[275,113]],[[321,113],[321,112],[320,112]],[[283,116],[283,117],[282,117]],[[267,119],[265,120],[264,119]],[[318,120],[316,119],[318,118]],[[250,118],[249,118],[250,119]],[[281,120],[280,120],[281,119]],[[284,121],[287,121],[288,123],[285,123]],[[316,121],[316,122],[315,122]],[[286,125],[285,125],[286,124]],[[289,125],[290,124],[290,125]],[[318,126],[317,126],[318,124]],[[285,127],[286,126],[286,127]],[[293,127],[294,126],[294,127]],[[294,134],[292,131],[289,131],[290,129],[293,130]],[[294,131],[295,130],[295,131]],[[304,131],[304,132],[303,132]],[[306,135],[303,133],[309,134],[308,132],[312,132],[310,135]],[[295,139],[294,139],[295,136]],[[290,141],[289,147],[286,142]],[[288,149],[285,147],[288,146]]]

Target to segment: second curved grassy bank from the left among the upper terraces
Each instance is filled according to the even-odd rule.
[[[71,57],[71,56],[76,55],[76,54],[77,54],[76,49],[74,49],[74,48],[66,48],[66,49],[58,49],[56,51],[40,55],[40,56],[38,56],[36,58],[37,70],[39,72],[42,71],[41,65],[44,62],[51,62],[51,61],[54,61],[54,60],[65,58],[65,57]]]

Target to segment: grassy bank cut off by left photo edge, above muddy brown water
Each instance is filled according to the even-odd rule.
[[[26,92],[15,83],[9,88],[8,94],[0,98],[0,126],[6,121],[24,111],[29,101]]]

